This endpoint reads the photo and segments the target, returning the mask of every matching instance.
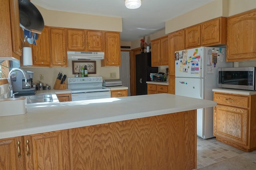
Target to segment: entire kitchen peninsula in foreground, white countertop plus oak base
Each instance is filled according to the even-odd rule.
[[[28,104],[0,117],[0,148],[14,147],[0,158],[24,159],[26,169],[194,169],[196,109],[212,106],[172,94]]]

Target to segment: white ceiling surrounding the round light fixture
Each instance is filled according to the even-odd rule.
[[[48,10],[122,18],[121,41],[135,41],[165,27],[165,21],[213,0],[141,0],[138,9],[128,9],[124,0],[31,0]]]

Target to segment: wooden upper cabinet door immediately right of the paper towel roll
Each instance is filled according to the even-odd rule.
[[[45,26],[33,45],[33,66],[50,66],[49,31]]]

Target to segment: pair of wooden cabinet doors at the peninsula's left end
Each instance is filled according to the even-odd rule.
[[[0,139],[0,170],[70,169],[68,130]]]

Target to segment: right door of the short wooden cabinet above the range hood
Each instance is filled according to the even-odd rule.
[[[87,51],[104,51],[104,36],[102,31],[86,31]]]

